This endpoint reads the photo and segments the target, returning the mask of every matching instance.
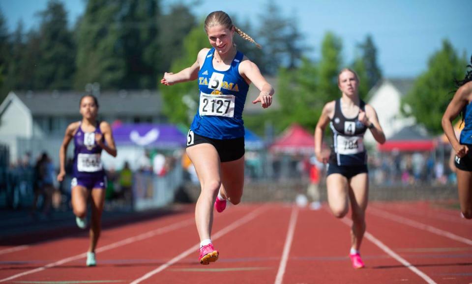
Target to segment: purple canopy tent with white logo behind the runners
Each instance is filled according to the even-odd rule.
[[[172,124],[118,124],[113,128],[117,145],[137,145],[155,148],[185,147],[187,139]]]

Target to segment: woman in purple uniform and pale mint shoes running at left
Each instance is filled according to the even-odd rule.
[[[74,166],[72,187],[72,208],[77,226],[87,227],[87,200],[91,197],[90,245],[87,266],[95,266],[95,247],[101,231],[101,216],[105,202],[106,178],[101,162],[102,149],[117,156],[117,148],[110,124],[97,120],[98,101],[92,95],[80,100],[82,120],[73,122],[65,130],[64,140],[59,150],[60,170],[58,181],[65,176],[65,156],[67,146],[74,140]]]

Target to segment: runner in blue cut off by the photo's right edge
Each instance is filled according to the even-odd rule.
[[[468,67],[471,70],[467,72],[466,78],[456,82],[458,89],[442,116],[442,129],[456,154],[454,164],[462,216],[472,219],[472,57]],[[452,121],[461,112],[465,125],[457,141]]]

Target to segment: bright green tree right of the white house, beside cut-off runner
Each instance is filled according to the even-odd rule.
[[[467,60],[460,57],[448,40],[428,60],[428,69],[402,98],[402,111],[433,134],[442,133],[441,119],[455,89],[454,80],[464,78]],[[407,107],[408,106],[408,107]]]

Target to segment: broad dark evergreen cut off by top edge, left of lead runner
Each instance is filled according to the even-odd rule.
[[[89,0],[78,26],[75,85],[155,88],[158,0]]]

